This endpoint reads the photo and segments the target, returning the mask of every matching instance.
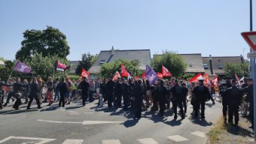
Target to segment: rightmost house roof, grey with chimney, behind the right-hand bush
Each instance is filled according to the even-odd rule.
[[[242,56],[218,56],[212,57],[212,71],[210,69],[210,57],[203,57],[203,64],[208,65],[208,69],[205,69],[206,74],[210,76],[224,75],[224,68],[220,69],[219,66],[224,67],[226,63],[242,63],[244,61]]]

